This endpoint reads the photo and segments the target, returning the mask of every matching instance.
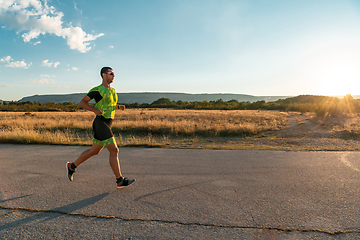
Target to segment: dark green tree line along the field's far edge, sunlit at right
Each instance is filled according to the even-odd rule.
[[[238,100],[223,101],[171,101],[160,98],[152,103],[121,103],[126,108],[170,108],[196,110],[279,110],[314,112],[320,117],[341,117],[360,112],[360,100],[351,95],[344,98],[300,95],[297,97],[279,99],[273,102],[239,102]],[[77,103],[40,103],[40,102],[0,102],[0,111],[80,111]]]

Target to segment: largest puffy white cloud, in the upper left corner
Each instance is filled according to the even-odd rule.
[[[24,42],[30,42],[40,35],[55,34],[66,39],[70,49],[87,52],[90,42],[103,33],[93,35],[84,32],[80,27],[63,27],[62,12],[48,6],[47,1],[40,0],[5,0],[0,1],[0,22],[22,34]]]

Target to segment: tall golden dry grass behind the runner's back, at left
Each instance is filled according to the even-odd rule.
[[[91,144],[91,114],[0,112],[1,143]]]

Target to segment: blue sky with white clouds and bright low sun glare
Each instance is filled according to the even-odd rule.
[[[0,0],[0,99],[360,95],[358,0]]]

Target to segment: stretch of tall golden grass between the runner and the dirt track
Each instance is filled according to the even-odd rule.
[[[117,114],[113,128],[129,133],[175,136],[245,136],[279,130],[287,113],[252,110],[131,110]]]

